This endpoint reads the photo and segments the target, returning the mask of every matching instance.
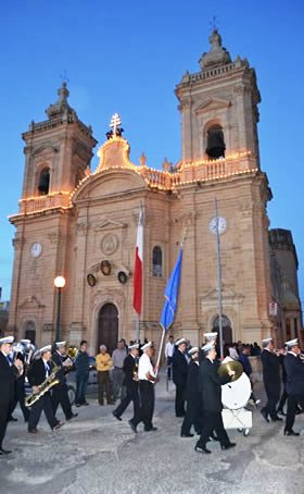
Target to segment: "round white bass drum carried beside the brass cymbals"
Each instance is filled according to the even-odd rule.
[[[230,410],[238,410],[248,404],[251,395],[251,383],[249,376],[242,375],[228,384],[221,386],[221,403]]]

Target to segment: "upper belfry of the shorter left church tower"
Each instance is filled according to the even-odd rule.
[[[90,165],[97,144],[91,127],[86,126],[67,102],[63,83],[56,103],[46,110],[48,120],[31,122],[23,134],[26,165],[22,199],[69,194]]]

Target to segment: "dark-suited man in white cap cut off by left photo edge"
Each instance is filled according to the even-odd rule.
[[[0,456],[12,453],[3,449],[2,442],[7,432],[9,413],[14,400],[15,379],[23,372],[22,361],[16,359],[12,363],[9,358],[13,341],[13,336],[7,336],[0,339]]]

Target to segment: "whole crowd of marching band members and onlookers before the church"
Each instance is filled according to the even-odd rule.
[[[193,437],[195,432],[200,439],[194,449],[210,454],[208,441],[218,441],[221,449],[236,446],[229,440],[221,416],[221,386],[235,379],[236,371],[228,368],[228,372],[220,376],[217,333],[205,336],[205,344],[200,348],[192,347],[185,338],[175,342],[169,335],[165,358],[167,378],[176,387],[175,415],[182,418],[180,435]],[[28,344],[28,341],[22,342]],[[68,355],[66,342],[55,342],[36,351],[36,358],[30,362],[23,351],[12,351],[12,336],[0,339],[0,456],[11,453],[3,448],[2,442],[8,421],[15,420],[12,413],[17,403],[30,434],[37,434],[42,410],[52,431],[64,424],[56,418],[59,405],[66,421],[78,416],[68,398],[66,374],[69,370],[76,372],[75,406],[89,405],[86,394],[92,363],[85,339],[74,358]],[[235,351],[230,351],[231,348]],[[263,339],[262,348],[257,343],[250,346],[238,342],[227,350],[230,360],[238,360],[249,378],[252,373],[249,356],[261,358],[267,396],[261,413],[266,422],[282,421],[286,416],[284,434],[297,436],[299,432],[293,430],[295,415],[304,410],[304,359],[297,339],[287,342],[284,350],[280,351],[275,350],[271,338]],[[99,405],[103,406],[105,400],[114,405],[119,399],[112,413],[121,421],[132,403],[134,415],[128,422],[135,433],[140,422],[144,431],[156,431],[153,413],[159,369],[153,357],[153,342],[145,341],[143,345],[130,342],[127,346],[124,339],[117,343],[112,355],[105,345],[101,345],[96,356]],[[25,376],[31,386],[29,396],[25,395]],[[250,400],[255,406],[259,403],[253,394]]]

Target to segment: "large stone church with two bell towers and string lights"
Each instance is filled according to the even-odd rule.
[[[180,161],[162,170],[129,159],[114,122],[90,169],[97,140],[67,102],[63,83],[48,120],[23,134],[25,172],[16,232],[9,329],[38,346],[54,339],[63,275],[61,338],[89,341],[90,351],[135,338],[132,276],[143,208],[143,301],[140,338],[160,339],[166,281],[186,232],[175,337],[203,342],[218,328],[215,199],[218,210],[226,342],[280,344],[300,335],[297,260],[289,231],[269,231],[271,192],[258,151],[256,75],[231,60],[215,29],[197,73],[176,86]],[[117,115],[116,115],[117,120]],[[114,118],[115,121],[115,118]],[[156,166],[156,164],[155,164]]]

